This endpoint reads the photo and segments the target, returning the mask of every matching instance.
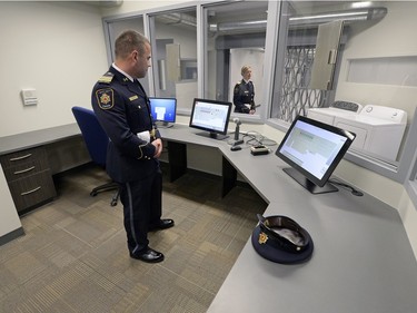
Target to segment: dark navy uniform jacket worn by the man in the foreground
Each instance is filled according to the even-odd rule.
[[[142,86],[110,67],[91,92],[91,105],[109,136],[106,169],[119,183],[146,179],[158,167],[156,148],[150,141],[160,138],[152,120],[149,100]],[[150,140],[138,137],[150,133]]]

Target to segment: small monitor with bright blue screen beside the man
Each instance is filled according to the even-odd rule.
[[[171,127],[176,123],[177,99],[150,97],[150,113],[155,121],[162,123],[165,127]]]

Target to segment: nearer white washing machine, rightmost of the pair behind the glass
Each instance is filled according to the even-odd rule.
[[[335,116],[332,125],[356,134],[351,149],[396,160],[407,126],[407,113],[367,105],[357,115]]]

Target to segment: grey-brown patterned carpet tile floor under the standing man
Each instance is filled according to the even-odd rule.
[[[163,176],[163,217],[149,235],[165,261],[129,257],[122,207],[87,166],[56,179],[57,198],[21,217],[24,236],[0,246],[0,312],[206,312],[267,204],[249,186],[221,198],[221,180]]]

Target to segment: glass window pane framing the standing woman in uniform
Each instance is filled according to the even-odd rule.
[[[232,102],[235,87],[244,78],[241,69],[247,66],[251,70],[249,80],[252,82],[239,85],[242,88],[239,92],[246,92],[246,96],[255,94],[255,105],[264,101],[261,95],[267,11],[268,1],[239,1],[205,7],[206,98]],[[248,106],[247,100],[245,104]]]

